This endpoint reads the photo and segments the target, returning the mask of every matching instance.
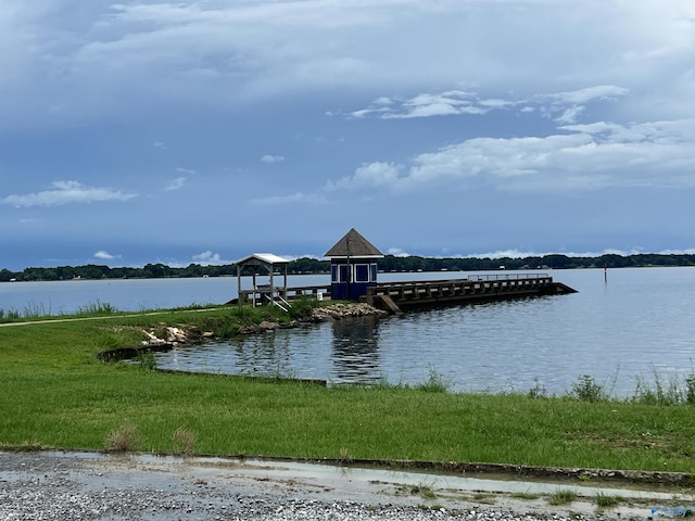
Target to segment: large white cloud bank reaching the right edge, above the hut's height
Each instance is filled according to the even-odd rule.
[[[412,166],[363,165],[327,190],[420,190],[488,183],[497,189],[587,191],[608,187],[695,188],[695,119],[628,126],[567,125],[546,137],[475,138],[416,156]],[[403,171],[403,174],[401,174]],[[440,189],[440,188],[437,188]]]

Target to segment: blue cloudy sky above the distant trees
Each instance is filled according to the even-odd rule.
[[[0,0],[0,269],[695,253],[692,0]]]

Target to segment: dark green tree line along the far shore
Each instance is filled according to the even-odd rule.
[[[381,271],[482,271],[492,269],[572,269],[572,268],[627,268],[646,266],[695,266],[691,254],[606,254],[595,257],[570,257],[553,254],[528,257],[466,257],[440,258],[387,255],[378,260]],[[302,257],[288,264],[290,275],[321,275],[330,272],[330,260]],[[116,267],[88,264],[85,266],[58,266],[52,268],[26,268],[22,271],[0,269],[0,282],[48,281],[71,279],[156,279],[186,277],[236,276],[235,265],[202,266],[190,264],[175,268],[165,264],[147,264],[143,267]]]

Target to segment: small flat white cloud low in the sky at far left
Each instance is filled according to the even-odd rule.
[[[54,181],[51,189],[37,193],[12,194],[0,202],[15,207],[60,206],[72,203],[94,203],[106,201],[128,201],[136,193],[112,190],[110,188],[86,187],[77,181]]]

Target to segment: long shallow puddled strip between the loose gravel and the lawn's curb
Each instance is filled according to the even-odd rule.
[[[224,504],[231,493],[249,497],[325,501],[357,501],[371,505],[437,505],[447,509],[497,508],[515,511],[596,512],[597,496],[620,496],[608,510],[615,516],[647,517],[656,505],[693,504],[691,496],[630,488],[591,482],[542,482],[509,476],[467,476],[409,470],[368,469],[285,460],[222,457],[179,458],[172,456],[114,456],[99,453],[47,452],[17,456],[22,461],[38,458],[36,470],[11,468],[12,456],[0,453],[0,486],[29,478],[48,479],[50,473],[68,480],[84,491],[108,492],[154,490],[173,495],[205,497]],[[22,463],[26,465],[26,463]],[[36,471],[35,471],[36,470]],[[547,496],[558,491],[577,495],[570,505],[553,507]],[[523,497],[521,497],[523,496]],[[675,501],[675,503],[674,503]]]

